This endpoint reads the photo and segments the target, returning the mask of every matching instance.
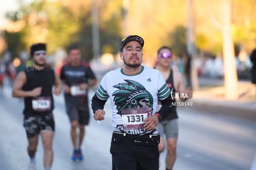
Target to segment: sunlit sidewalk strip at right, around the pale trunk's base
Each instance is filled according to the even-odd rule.
[[[193,99],[190,100],[193,103],[193,109],[256,122],[256,85],[249,81],[239,81],[239,98],[225,100],[223,80],[200,80],[204,82],[204,87],[194,91]],[[214,83],[216,84],[214,85]]]

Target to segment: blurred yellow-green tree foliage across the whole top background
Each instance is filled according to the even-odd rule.
[[[95,1],[98,7],[101,53],[118,53],[120,40],[127,33],[141,35],[145,39],[144,61],[151,64],[160,46],[171,46],[176,55],[186,49],[186,0],[127,1],[127,20],[124,20],[123,1]],[[213,14],[216,14],[218,9],[213,8],[216,1],[193,2],[197,48],[200,51],[221,54],[221,33],[210,20],[207,5],[210,2]],[[244,46],[249,53],[254,48],[256,39],[256,1],[231,2],[234,43]],[[58,48],[79,43],[85,56],[92,59],[92,0],[35,0],[31,4],[20,2],[19,9],[8,12],[7,18],[13,23],[23,23],[19,31],[4,31],[10,51],[19,53],[22,48],[28,49],[32,43],[43,41],[48,43],[48,52],[54,53]]]

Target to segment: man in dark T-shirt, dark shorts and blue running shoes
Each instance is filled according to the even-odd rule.
[[[74,147],[71,159],[76,161],[83,159],[80,148],[85,135],[85,125],[88,125],[90,118],[87,94],[88,88],[96,84],[96,77],[89,64],[81,61],[79,47],[70,46],[68,61],[61,68],[61,80],[64,83],[66,111],[71,123],[70,133]]]

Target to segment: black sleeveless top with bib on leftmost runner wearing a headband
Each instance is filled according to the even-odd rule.
[[[36,87],[42,87],[41,95],[38,97],[24,98],[25,116],[45,115],[53,111],[53,85],[55,81],[54,70],[45,67],[43,70],[35,70],[33,67],[24,70],[27,82],[22,90],[30,91]]]

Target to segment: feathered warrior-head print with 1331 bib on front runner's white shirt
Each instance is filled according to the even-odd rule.
[[[113,93],[114,103],[117,113],[122,116],[122,127],[119,128],[128,134],[143,134],[143,120],[152,113],[153,96],[140,83],[124,81],[113,86],[118,89]]]

